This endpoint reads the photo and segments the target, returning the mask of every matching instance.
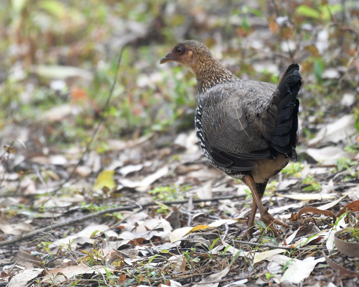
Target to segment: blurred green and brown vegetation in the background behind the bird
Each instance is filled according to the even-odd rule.
[[[106,138],[192,128],[194,77],[183,67],[159,66],[183,39],[205,43],[246,79],[275,83],[289,63],[298,62],[306,137],[325,117],[357,113],[355,0],[4,0],[0,23],[0,131],[28,126],[59,147],[87,143],[124,44],[129,46],[106,110],[106,128],[99,133],[104,151]],[[354,98],[350,104],[341,102],[345,93]],[[71,112],[44,120],[46,111],[61,105]],[[9,134],[1,144],[15,139]]]

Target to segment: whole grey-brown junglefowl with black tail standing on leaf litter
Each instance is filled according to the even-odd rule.
[[[195,115],[197,140],[216,168],[242,180],[253,195],[244,237],[252,236],[257,208],[261,220],[275,234],[276,220],[261,203],[269,178],[289,162],[297,161],[299,138],[297,95],[301,85],[299,66],[289,65],[278,85],[239,79],[197,41],[178,43],[160,61],[175,61],[197,79]]]

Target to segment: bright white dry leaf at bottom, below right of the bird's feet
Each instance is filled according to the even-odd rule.
[[[294,263],[288,267],[288,269],[285,270],[283,276],[280,278],[274,278],[279,279],[279,282],[276,281],[276,283],[280,283],[283,281],[289,281],[290,283],[299,284],[304,279],[308,278],[313,271],[314,267],[319,262],[325,262],[324,257],[320,257],[318,259],[315,259],[314,257],[307,257],[303,260],[294,259]]]

